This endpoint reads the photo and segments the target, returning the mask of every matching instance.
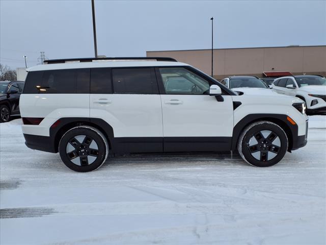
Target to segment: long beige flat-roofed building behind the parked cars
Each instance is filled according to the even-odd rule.
[[[172,57],[211,74],[211,50],[148,51],[146,55]],[[213,58],[216,79],[238,75],[262,78],[265,71],[326,76],[326,45],[215,49]]]

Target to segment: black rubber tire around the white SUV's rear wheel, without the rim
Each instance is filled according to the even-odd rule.
[[[73,162],[71,162],[67,156],[66,153],[67,144],[71,138],[77,135],[87,135],[91,137],[93,140],[95,140],[95,142],[97,143],[99,155],[97,159],[88,166],[76,165]],[[71,170],[78,171],[78,172],[89,172],[89,171],[96,170],[103,164],[107,156],[106,145],[103,138],[95,130],[86,127],[73,128],[69,130],[67,133],[65,133],[59,142],[59,154],[61,160],[64,162],[64,164],[67,167],[69,167]]]

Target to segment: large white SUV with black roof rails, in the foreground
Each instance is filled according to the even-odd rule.
[[[238,150],[266,167],[307,143],[302,100],[237,95],[172,58],[48,60],[28,69],[25,144],[75,171],[117,154]]]

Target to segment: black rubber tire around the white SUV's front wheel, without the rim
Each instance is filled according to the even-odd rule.
[[[273,159],[271,159],[269,161],[265,161],[265,162],[259,161],[256,158],[254,158],[249,151],[249,147],[247,146],[247,144],[249,143],[249,140],[255,133],[257,133],[259,131],[264,131],[264,130],[269,130],[269,131],[276,133],[281,141],[281,150],[278,153],[278,155],[276,157],[274,157]],[[287,147],[288,147],[288,139],[287,139],[287,136],[286,136],[285,132],[283,131],[283,129],[280,128],[276,124],[269,124],[267,122],[262,122],[261,124],[255,125],[251,129],[249,129],[246,132],[246,134],[244,135],[242,142],[241,142],[241,151],[242,151],[243,157],[251,165],[254,165],[257,167],[269,167],[269,166],[273,166],[273,165],[277,164],[284,157],[284,155],[287,151]]]

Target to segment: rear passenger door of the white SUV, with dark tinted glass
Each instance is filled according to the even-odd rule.
[[[161,152],[162,110],[154,68],[92,68],[91,118],[114,131],[115,152]]]

